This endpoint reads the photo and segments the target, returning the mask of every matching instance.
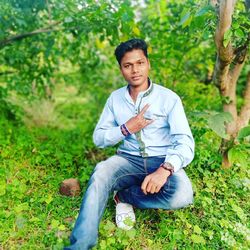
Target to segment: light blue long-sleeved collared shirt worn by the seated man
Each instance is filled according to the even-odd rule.
[[[153,123],[125,137],[120,126],[146,104],[150,106],[144,117],[153,119]],[[164,156],[174,166],[174,172],[187,166],[194,157],[194,139],[179,96],[152,82],[138,94],[136,103],[127,86],[114,91],[105,104],[93,139],[100,148],[123,141],[119,151],[142,157]]]

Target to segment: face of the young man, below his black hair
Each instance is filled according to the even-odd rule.
[[[149,60],[141,49],[126,52],[121,60],[120,70],[131,87],[148,87]]]

